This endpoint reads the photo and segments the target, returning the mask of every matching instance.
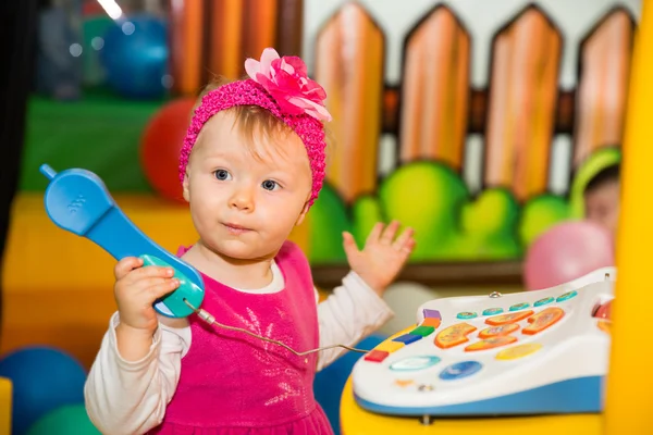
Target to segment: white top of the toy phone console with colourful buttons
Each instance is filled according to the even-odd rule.
[[[427,302],[418,324],[390,337],[357,363],[354,390],[367,401],[392,397],[397,407],[402,397],[406,406],[416,400],[429,405],[423,401],[428,399],[407,399],[410,393],[428,390],[433,403],[447,405],[445,396],[452,388],[498,382],[515,364],[533,364],[537,370],[537,356],[567,338],[608,337],[612,283],[604,284],[608,285]],[[439,399],[438,391],[443,393]]]

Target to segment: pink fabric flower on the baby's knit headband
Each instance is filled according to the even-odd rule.
[[[274,98],[283,112],[291,115],[306,113],[320,121],[331,121],[323,103],[326,92],[308,78],[301,59],[294,55],[280,58],[276,50],[267,48],[260,62],[245,61],[245,71]]]

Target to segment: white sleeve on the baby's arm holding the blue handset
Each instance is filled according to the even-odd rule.
[[[163,420],[190,346],[190,328],[185,320],[160,321],[149,352],[126,361],[118,351],[119,323],[116,312],[84,386],[86,410],[104,435],[144,434]]]

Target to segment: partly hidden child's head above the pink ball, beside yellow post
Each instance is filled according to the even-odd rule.
[[[616,235],[619,221],[619,163],[601,170],[584,189],[586,219]]]

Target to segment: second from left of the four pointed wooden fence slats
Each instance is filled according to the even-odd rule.
[[[443,161],[459,170],[468,124],[469,35],[448,8],[435,9],[408,37],[401,160]]]

